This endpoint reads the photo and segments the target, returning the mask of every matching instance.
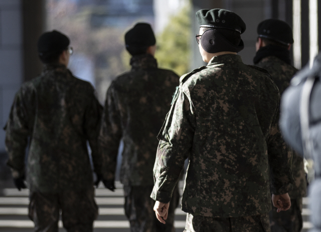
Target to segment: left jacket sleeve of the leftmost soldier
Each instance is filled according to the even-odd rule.
[[[30,128],[32,123],[29,119],[31,118],[30,108],[35,101],[33,97],[34,93],[26,91],[23,87],[18,91],[4,128],[6,130],[6,150],[9,155],[7,164],[12,168],[14,178],[25,174],[25,154],[32,130]]]

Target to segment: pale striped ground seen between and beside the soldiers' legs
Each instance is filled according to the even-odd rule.
[[[112,192],[100,186],[96,189],[96,202],[99,206],[99,216],[94,222],[94,232],[113,231],[129,232],[129,223],[124,215],[124,197],[122,186],[116,182],[117,189]],[[183,182],[180,182],[181,193]],[[18,191],[16,188],[5,188],[3,196],[0,197],[0,231],[8,232],[31,232],[34,223],[29,220],[28,213],[29,190]],[[307,222],[309,210],[307,207],[308,198],[303,199],[303,230],[306,232],[311,224]],[[180,208],[176,209],[175,226],[177,232],[185,228],[186,213]],[[60,221],[60,230],[62,228]]]

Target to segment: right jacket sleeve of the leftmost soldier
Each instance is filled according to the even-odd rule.
[[[94,171],[97,174],[101,174],[102,156],[98,151],[98,135],[100,129],[102,106],[97,100],[93,87],[91,87],[89,99],[90,102],[85,112],[84,127],[91,149],[91,157],[93,161]]]

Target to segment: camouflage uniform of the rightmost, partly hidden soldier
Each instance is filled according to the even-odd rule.
[[[296,68],[275,56],[267,56],[260,60],[256,65],[260,68],[266,69],[270,73],[281,95],[289,86],[290,80],[297,72]],[[292,174],[294,184],[293,189],[289,192],[291,208],[287,211],[281,211],[278,213],[276,212],[276,208],[272,207],[272,211],[270,212],[272,231],[298,232],[302,228],[301,209],[295,208],[297,205],[295,202],[302,201],[302,197],[306,195],[306,178],[303,158],[295,151],[293,151],[292,157]]]

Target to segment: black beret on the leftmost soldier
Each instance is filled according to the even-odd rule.
[[[67,49],[69,43],[68,37],[58,31],[45,32],[39,37],[38,52],[61,52]]]

